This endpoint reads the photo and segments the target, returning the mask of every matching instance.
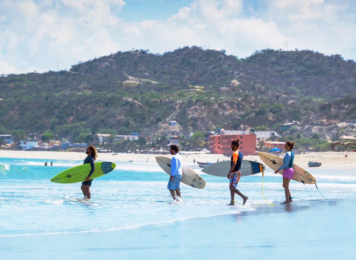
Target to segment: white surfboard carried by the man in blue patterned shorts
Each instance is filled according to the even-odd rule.
[[[156,161],[163,171],[167,172],[168,175],[171,175],[171,157],[167,156],[156,156]],[[187,165],[182,163],[182,172],[183,177],[180,182],[187,184],[190,187],[203,189],[206,185],[206,181],[198,173],[193,171]]]

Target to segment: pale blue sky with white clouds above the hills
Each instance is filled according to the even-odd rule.
[[[355,31],[355,0],[0,0],[0,74],[193,45],[244,58],[288,42],[356,60]]]

